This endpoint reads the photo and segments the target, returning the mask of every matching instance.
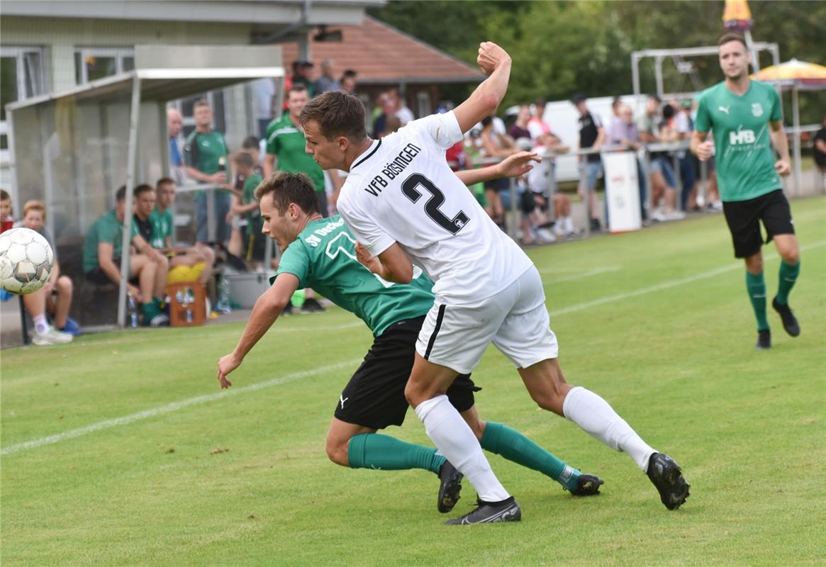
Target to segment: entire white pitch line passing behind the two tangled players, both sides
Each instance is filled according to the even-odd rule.
[[[816,243],[811,243],[807,246],[800,247],[801,250],[810,250],[812,248],[820,248],[822,246],[826,246],[826,240]],[[770,254],[765,257],[767,260],[771,260],[777,258],[776,254]],[[715,268],[714,270],[709,270],[707,272],[700,272],[699,274],[695,274],[694,276],[683,277],[677,280],[671,281],[663,281],[662,283],[657,284],[656,286],[648,286],[643,287],[641,289],[635,291],[629,291],[627,293],[616,294],[616,295],[608,295],[606,297],[602,297],[597,300],[586,301],[584,303],[578,303],[577,305],[571,305],[569,307],[565,307],[563,309],[558,309],[556,311],[552,311],[550,315],[556,316],[561,314],[573,313],[575,311],[582,311],[582,309],[588,309],[589,307],[595,307],[596,305],[604,305],[606,303],[612,303],[614,301],[628,299],[629,297],[636,297],[638,295],[644,295],[647,293],[652,293],[654,291],[665,290],[670,287],[681,286],[686,283],[691,283],[692,281],[703,280],[709,277],[717,276],[719,274],[725,272],[731,272],[733,270],[742,270],[743,264],[740,262],[733,262],[731,265],[722,266],[719,268]],[[318,368],[308,370],[308,371],[301,371],[301,372],[294,372],[293,374],[284,376],[283,378],[276,378],[273,380],[266,380],[263,382],[259,382],[257,384],[251,384],[248,386],[244,386],[238,389],[230,389],[224,390],[221,392],[216,392],[215,394],[208,394],[208,395],[200,395],[195,396],[193,398],[182,399],[178,402],[173,402],[172,404],[162,405],[158,408],[152,409],[145,409],[142,412],[132,413],[131,415],[126,415],[122,418],[114,418],[114,419],[107,419],[106,421],[92,423],[87,425],[83,428],[72,429],[67,432],[63,433],[56,433],[55,435],[50,435],[49,437],[40,437],[40,439],[34,439],[32,441],[27,441],[23,443],[17,443],[17,445],[10,445],[9,447],[3,447],[0,450],[0,455],[9,455],[11,453],[15,453],[17,451],[26,451],[27,449],[33,449],[35,447],[43,447],[44,445],[52,445],[54,443],[58,443],[64,441],[65,439],[73,439],[74,437],[80,437],[82,435],[86,435],[87,433],[92,433],[99,431],[101,429],[113,428],[120,425],[126,425],[127,423],[132,423],[138,421],[140,419],[145,418],[152,418],[156,415],[160,415],[162,413],[170,413],[176,411],[178,409],[187,408],[188,406],[195,405],[195,404],[205,404],[207,402],[214,401],[216,399],[224,398],[228,395],[235,395],[235,394],[243,394],[250,391],[255,390],[263,390],[263,388],[269,388],[270,386],[284,384],[286,382],[290,382],[292,380],[300,380],[301,378],[306,378],[307,376],[315,376],[316,374],[320,374],[321,372],[325,371],[333,371],[339,370],[340,368],[344,368],[347,366],[354,366],[358,364],[362,359],[354,360],[354,361],[347,361],[347,362],[339,362],[338,364],[332,364],[330,366],[320,366]]]

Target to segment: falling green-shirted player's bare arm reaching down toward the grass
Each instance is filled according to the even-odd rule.
[[[249,314],[249,321],[235,350],[221,357],[218,361],[218,382],[221,389],[229,388],[232,382],[227,378],[231,371],[241,366],[244,357],[264,333],[275,323],[282,309],[287,306],[292,294],[298,289],[298,278],[292,274],[282,273],[275,278],[275,283],[259,297]]]

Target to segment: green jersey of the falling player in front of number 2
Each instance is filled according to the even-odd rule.
[[[339,215],[313,221],[284,251],[276,277],[296,276],[299,289],[311,287],[356,314],[375,337],[398,321],[428,312],[434,295],[427,276],[415,268],[409,284],[384,281],[358,262],[355,244]]]

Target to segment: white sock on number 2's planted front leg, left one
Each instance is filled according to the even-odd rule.
[[[439,395],[422,402],[415,414],[425,424],[425,432],[442,455],[473,485],[485,502],[510,498],[482,454],[482,447],[468,423],[450,404],[448,396]]]

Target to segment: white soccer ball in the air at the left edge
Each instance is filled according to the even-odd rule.
[[[0,287],[26,295],[49,281],[55,253],[34,230],[11,229],[0,234]]]

